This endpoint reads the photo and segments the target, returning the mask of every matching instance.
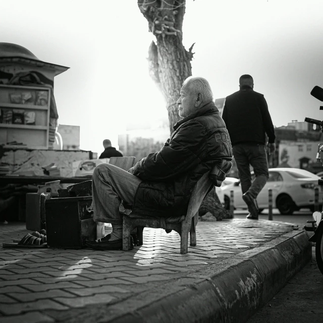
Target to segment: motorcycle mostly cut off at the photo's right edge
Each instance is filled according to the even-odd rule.
[[[319,86],[314,86],[311,91],[311,95],[320,101],[323,101],[323,89]],[[323,106],[319,107],[319,110],[323,110]],[[323,132],[323,121],[305,118],[305,122],[317,125]],[[318,145],[316,160],[323,166],[323,143]],[[323,178],[318,180],[318,185],[323,186]],[[323,209],[321,212],[315,211],[312,214],[313,220],[308,220],[307,223],[311,225],[304,226],[306,231],[314,232],[314,234],[308,239],[308,241],[315,242],[315,257],[316,263],[323,274]]]

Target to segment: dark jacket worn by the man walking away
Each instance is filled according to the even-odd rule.
[[[230,134],[231,143],[265,144],[275,142],[275,130],[263,94],[244,87],[226,98],[222,118]]]

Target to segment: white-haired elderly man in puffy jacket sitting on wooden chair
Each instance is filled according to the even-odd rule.
[[[191,192],[213,166],[231,160],[232,147],[226,125],[213,103],[204,78],[189,77],[177,101],[179,116],[174,132],[158,152],[142,158],[128,172],[109,164],[93,173],[93,218],[111,223],[111,234],[86,244],[94,249],[122,249],[122,201],[143,216],[186,214]]]

